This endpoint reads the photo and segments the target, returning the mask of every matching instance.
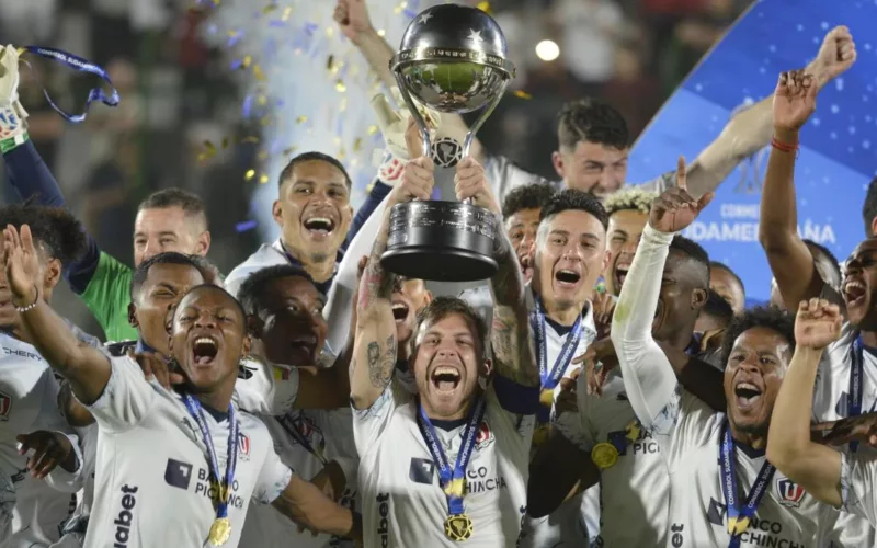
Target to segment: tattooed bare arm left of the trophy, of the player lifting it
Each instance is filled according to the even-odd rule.
[[[380,255],[387,249],[389,214],[387,207],[360,282],[356,338],[350,364],[351,401],[356,409],[372,407],[389,385],[396,366],[396,321],[390,302],[395,275],[380,266]]]

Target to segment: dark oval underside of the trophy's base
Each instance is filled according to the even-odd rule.
[[[415,246],[380,255],[384,270],[415,279],[477,282],[497,273],[497,261],[462,249]]]

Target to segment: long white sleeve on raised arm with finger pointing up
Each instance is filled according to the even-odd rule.
[[[676,375],[651,335],[672,241],[673,235],[646,225],[612,320],[627,398],[642,425],[659,434],[672,431],[680,402]]]

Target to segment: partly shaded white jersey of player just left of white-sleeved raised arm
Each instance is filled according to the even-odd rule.
[[[615,442],[618,460],[602,470],[600,483],[585,498],[600,498],[597,546],[664,546],[670,478],[661,446],[636,416],[627,400],[620,370],[606,377],[600,396],[588,393],[588,378],[576,388],[579,411],[561,414],[555,427],[590,455],[594,445]]]

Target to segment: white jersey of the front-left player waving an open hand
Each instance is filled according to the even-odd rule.
[[[127,356],[111,359],[103,395],[89,406],[98,421],[94,506],[86,546],[152,548],[203,546],[216,513],[207,449],[182,398],[147,381]],[[238,546],[250,500],[271,503],[292,471],[274,453],[265,425],[239,412],[238,464],[228,517]],[[205,411],[220,470],[228,448],[228,419]]]

